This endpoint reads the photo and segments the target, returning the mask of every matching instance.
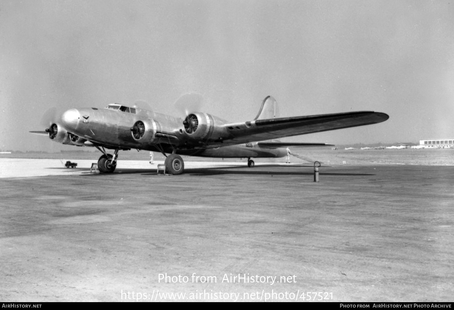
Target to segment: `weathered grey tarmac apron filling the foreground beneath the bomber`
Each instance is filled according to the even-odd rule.
[[[2,301],[453,300],[451,166],[58,164],[0,179]]]

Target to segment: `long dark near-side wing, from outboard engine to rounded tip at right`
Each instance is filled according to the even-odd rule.
[[[230,137],[225,139],[224,143],[241,144],[288,136],[306,135],[321,131],[376,124],[386,121],[388,118],[389,116],[387,114],[381,112],[357,111],[231,123],[225,125]]]

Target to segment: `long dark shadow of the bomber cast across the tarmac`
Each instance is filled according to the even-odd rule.
[[[270,168],[273,168],[270,170]],[[323,172],[323,169],[329,168],[330,166],[322,166],[320,168],[320,175],[344,175],[344,176],[368,176],[368,175],[375,175],[375,174],[367,174],[367,173],[344,173],[344,172]],[[304,168],[304,170],[300,170]],[[193,168],[184,170],[184,174],[190,174],[193,176],[203,176],[203,175],[219,175],[219,174],[251,174],[251,175],[258,175],[258,174],[273,174],[273,175],[313,175],[314,171],[313,165],[291,165],[291,166],[282,166],[282,165],[259,165],[254,168],[249,168],[245,165],[235,165],[229,167],[212,167],[212,168]],[[49,169],[61,169],[61,168],[49,168]],[[90,173],[89,168],[74,168],[71,169],[72,171],[78,170],[85,176],[110,176],[115,177],[121,174],[143,174],[143,175],[156,175],[156,170],[153,168],[151,169],[134,169],[134,168],[121,168],[117,169],[114,173],[111,174],[99,174],[99,173]]]

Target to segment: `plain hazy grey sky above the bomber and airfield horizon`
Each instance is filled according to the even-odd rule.
[[[453,0],[0,0],[0,150],[59,150],[28,133],[49,107],[144,101],[178,115],[194,92],[231,121],[268,95],[281,116],[390,115],[285,140],[453,138],[453,58]]]

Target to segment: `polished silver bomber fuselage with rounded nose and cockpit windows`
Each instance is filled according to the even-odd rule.
[[[113,105],[111,105],[113,106]],[[128,108],[129,109],[129,108]],[[129,112],[118,109],[79,108],[64,112],[61,122],[62,127],[68,133],[79,136],[81,143],[91,146],[97,143],[112,149],[137,149],[148,151],[164,151],[172,153],[175,149],[177,154],[202,156],[202,157],[284,157],[285,148],[262,147],[257,142],[239,145],[226,145],[219,140],[218,143],[209,146],[200,145],[193,147],[193,141],[184,132],[183,120],[166,114],[130,108]],[[135,113],[132,113],[134,110]],[[222,127],[227,121],[210,114],[203,113],[208,123]],[[149,136],[143,140],[136,140],[132,135],[132,126],[137,121],[145,121],[149,126]],[[212,126],[214,127],[214,126]],[[228,132],[220,133],[228,135]],[[91,142],[84,142],[88,140]],[[187,144],[191,147],[186,147]],[[65,144],[75,144],[65,143]],[[75,144],[77,145],[77,144]],[[80,144],[83,145],[83,144]]]

